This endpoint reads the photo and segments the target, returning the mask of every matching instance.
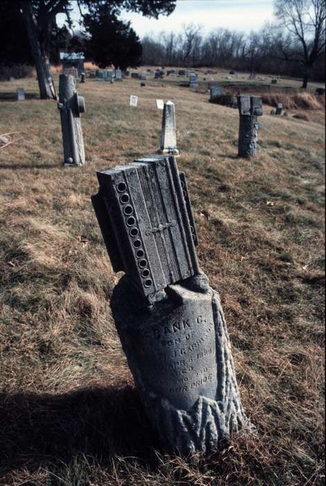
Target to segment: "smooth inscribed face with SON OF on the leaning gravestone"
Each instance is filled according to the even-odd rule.
[[[182,318],[169,321],[175,315]],[[147,392],[164,396],[182,410],[189,410],[200,395],[216,398],[215,329],[209,295],[187,302],[172,315],[168,312],[162,321],[128,328],[127,339]]]

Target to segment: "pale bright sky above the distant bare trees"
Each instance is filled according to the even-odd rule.
[[[78,19],[78,9],[72,15]],[[237,31],[257,30],[267,20],[273,19],[273,0],[178,0],[174,12],[159,19],[147,19],[140,14],[123,12],[123,19],[130,20],[139,37],[147,33],[174,31],[178,33],[182,24],[200,24],[203,33],[216,27],[226,27]],[[65,16],[57,16],[59,25]]]

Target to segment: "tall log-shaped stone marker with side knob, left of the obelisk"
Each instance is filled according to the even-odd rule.
[[[85,164],[83,131],[80,113],[85,112],[85,99],[76,92],[74,76],[59,76],[59,103],[64,165]]]

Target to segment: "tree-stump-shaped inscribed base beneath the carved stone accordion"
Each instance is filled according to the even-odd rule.
[[[127,276],[111,308],[135,384],[169,451],[208,451],[248,424],[219,296],[204,274],[150,305]]]

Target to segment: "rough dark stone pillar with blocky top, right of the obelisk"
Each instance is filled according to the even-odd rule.
[[[257,117],[263,114],[261,97],[238,96],[240,115],[239,157],[255,157],[257,150]]]

